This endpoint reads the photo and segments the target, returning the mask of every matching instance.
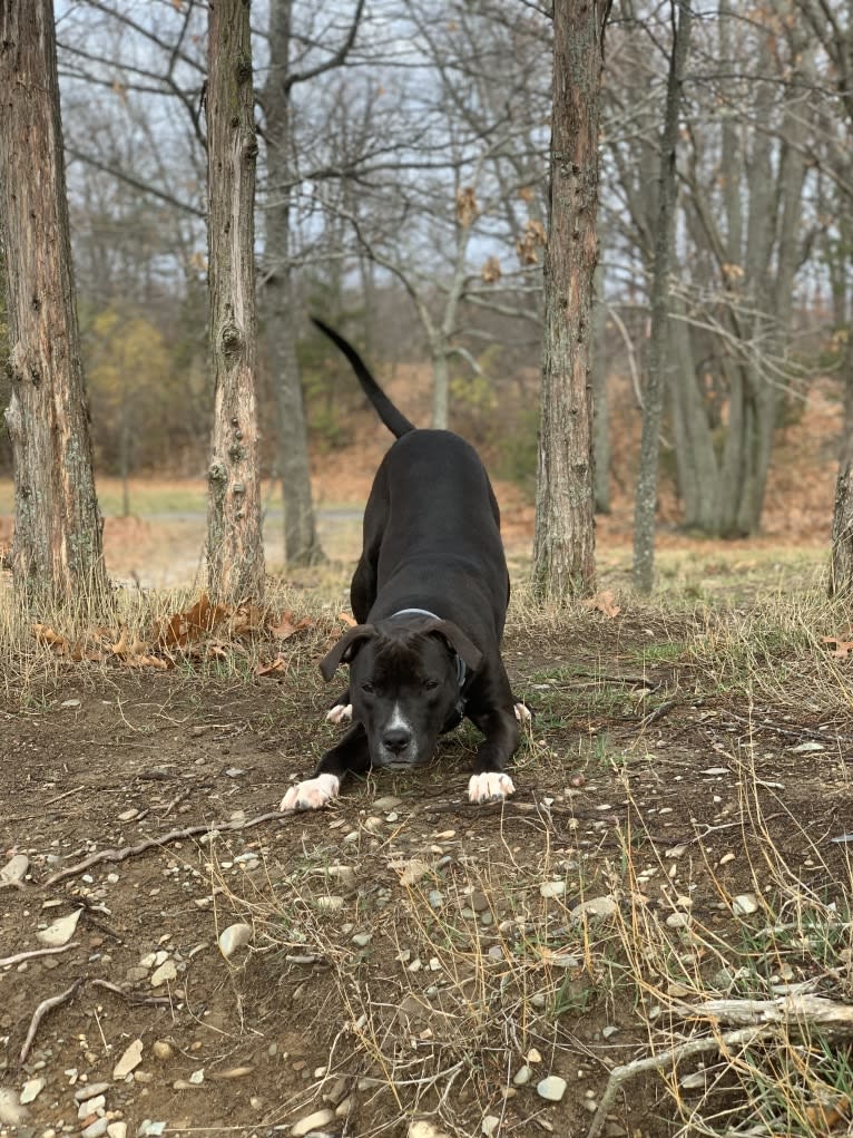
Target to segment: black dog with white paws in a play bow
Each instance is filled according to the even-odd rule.
[[[446,430],[417,430],[378,386],[358,353],[318,320],[349,360],[397,442],[376,472],[364,512],[364,547],[350,599],[358,625],[322,661],[330,681],[349,665],[349,690],[328,718],[353,727],[282,810],[336,798],[347,772],[428,761],[438,736],[467,716],[486,736],[469,783],[472,802],[515,790],[504,774],[519,741],[500,659],[510,576],[500,517],[473,447]]]

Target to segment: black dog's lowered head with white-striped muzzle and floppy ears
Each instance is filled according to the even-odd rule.
[[[328,682],[349,665],[353,721],[367,733],[375,767],[426,762],[459,700],[457,658],[475,671],[482,659],[449,620],[357,625],[320,665]]]

